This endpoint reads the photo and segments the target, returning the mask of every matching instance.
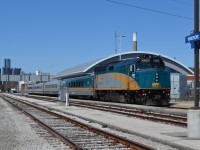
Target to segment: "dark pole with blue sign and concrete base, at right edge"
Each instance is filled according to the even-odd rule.
[[[200,138],[200,109],[199,109],[199,0],[194,0],[194,32],[185,38],[185,42],[194,48],[194,107],[187,112],[187,134],[189,138]]]

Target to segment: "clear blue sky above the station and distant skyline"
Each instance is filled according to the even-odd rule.
[[[123,52],[132,50],[132,34],[137,32],[139,51],[194,66],[193,49],[185,44],[193,30],[193,1],[113,1],[0,0],[0,67],[4,58],[10,58],[11,67],[26,73],[57,74],[113,55],[115,32],[126,36]]]

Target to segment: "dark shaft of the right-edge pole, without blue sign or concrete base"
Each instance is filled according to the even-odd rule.
[[[194,0],[194,34],[199,33],[199,0]],[[194,65],[195,65],[195,81],[194,107],[199,107],[199,41],[194,42]]]

